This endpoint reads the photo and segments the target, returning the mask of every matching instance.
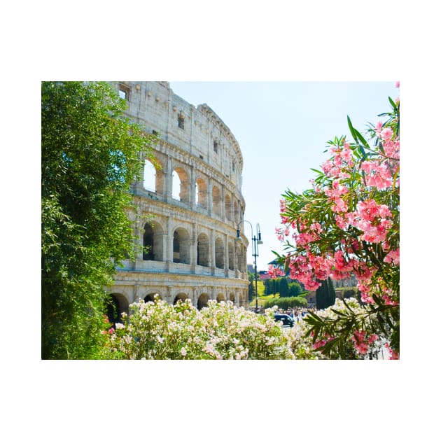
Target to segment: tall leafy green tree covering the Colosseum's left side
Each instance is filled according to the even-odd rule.
[[[97,358],[104,286],[133,256],[130,183],[151,158],[107,83],[41,85],[42,358]]]

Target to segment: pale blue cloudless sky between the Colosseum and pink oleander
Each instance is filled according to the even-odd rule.
[[[397,78],[399,80],[399,78]],[[207,103],[235,135],[244,156],[242,193],[245,219],[260,225],[258,269],[267,269],[281,253],[276,239],[279,201],[286,189],[310,188],[311,168],[328,158],[327,141],[347,135],[346,116],[364,132],[398,97],[389,82],[170,82],[174,93],[190,104]],[[245,223],[245,234],[251,228]],[[248,263],[253,262],[251,245]]]

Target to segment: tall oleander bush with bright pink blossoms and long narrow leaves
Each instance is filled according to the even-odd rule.
[[[302,194],[287,190],[281,200],[282,227],[276,234],[287,253],[279,255],[279,264],[290,278],[309,290],[328,276],[358,279],[363,314],[348,305],[337,316],[305,319],[314,347],[321,345],[328,356],[345,358],[349,336],[362,356],[374,335],[389,340],[393,357],[399,353],[400,102],[389,102],[391,112],[380,115],[386,122],[367,130],[369,142],[348,118],[353,142],[329,141],[330,159],[314,170],[313,188]]]

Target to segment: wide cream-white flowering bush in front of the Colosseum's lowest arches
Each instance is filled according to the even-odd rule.
[[[289,359],[290,337],[272,310],[265,316],[232,302],[209,300],[200,311],[190,300],[130,305],[114,332],[106,332],[106,358],[120,359]]]

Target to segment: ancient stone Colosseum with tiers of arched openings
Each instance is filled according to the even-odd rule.
[[[237,240],[245,210],[237,140],[207,104],[196,108],[168,82],[112,85],[127,101],[127,116],[160,136],[153,151],[160,167],[142,158],[144,179],[132,185],[139,253],[117,268],[109,288],[117,314],[154,295],[173,304],[190,299],[199,309],[208,300],[246,305],[248,240]]]

